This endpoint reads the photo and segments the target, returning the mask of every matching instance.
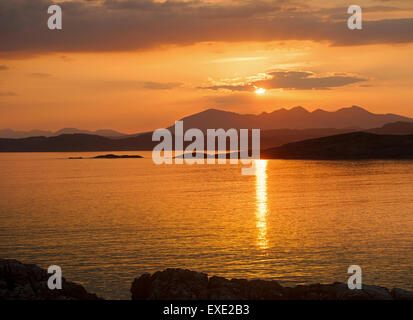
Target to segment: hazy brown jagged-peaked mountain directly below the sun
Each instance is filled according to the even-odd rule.
[[[290,110],[279,109],[271,113],[238,114],[234,112],[208,109],[182,119],[186,129],[369,129],[381,127],[389,122],[413,122],[412,118],[396,114],[374,114],[361,107],[342,108],[334,112],[321,109],[309,112],[302,107]]]

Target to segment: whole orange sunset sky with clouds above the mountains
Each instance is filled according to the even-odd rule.
[[[207,108],[413,117],[412,31],[410,0],[2,0],[0,128],[134,133]]]

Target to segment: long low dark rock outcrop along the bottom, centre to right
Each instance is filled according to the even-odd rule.
[[[208,277],[205,273],[167,269],[136,278],[132,300],[413,300],[413,292],[344,283],[283,287],[277,281]]]

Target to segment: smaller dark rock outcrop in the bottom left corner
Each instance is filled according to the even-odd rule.
[[[62,278],[61,290],[50,290],[51,274],[34,264],[0,259],[0,300],[99,300],[79,284]]]

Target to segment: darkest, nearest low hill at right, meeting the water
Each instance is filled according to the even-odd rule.
[[[413,159],[413,135],[352,132],[288,143],[261,152],[262,159]]]

